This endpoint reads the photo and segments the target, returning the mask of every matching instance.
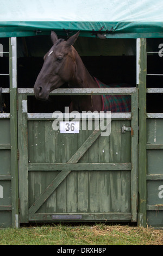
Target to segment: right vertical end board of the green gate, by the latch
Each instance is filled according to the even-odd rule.
[[[131,95],[131,222],[137,222],[138,95]]]

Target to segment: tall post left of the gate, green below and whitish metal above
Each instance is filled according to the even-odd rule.
[[[9,40],[10,72],[10,131],[11,131],[11,187],[12,227],[19,227],[18,220],[18,163],[17,163],[17,53],[16,38]]]

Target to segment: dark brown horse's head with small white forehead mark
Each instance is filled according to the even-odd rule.
[[[52,31],[53,46],[43,58],[44,63],[34,85],[36,99],[47,100],[52,90],[71,81],[76,71],[76,60],[72,45],[77,40],[79,33],[65,41],[64,39],[58,39],[57,34]]]

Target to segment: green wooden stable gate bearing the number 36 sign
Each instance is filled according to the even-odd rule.
[[[137,88],[55,94],[130,94],[131,113],[111,113],[108,137],[101,130],[60,133],[52,113],[28,113],[33,89],[18,89],[20,222],[136,222]]]

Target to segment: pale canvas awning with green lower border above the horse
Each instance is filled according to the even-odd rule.
[[[157,38],[163,37],[162,10],[162,0],[1,0],[0,36],[80,30],[88,37]]]

